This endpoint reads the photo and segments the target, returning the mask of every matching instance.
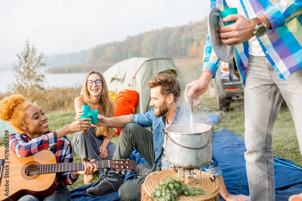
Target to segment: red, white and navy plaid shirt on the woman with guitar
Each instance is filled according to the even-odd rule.
[[[27,157],[45,149],[53,152],[57,163],[73,162],[72,146],[69,139],[64,136],[57,140],[56,132],[48,132],[45,135],[30,139],[25,134],[14,133],[9,136],[9,146],[19,157]],[[72,172],[57,173],[59,175],[59,184],[63,186],[71,185],[76,182],[72,179]]]

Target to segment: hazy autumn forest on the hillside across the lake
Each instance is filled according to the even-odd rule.
[[[207,19],[181,27],[166,27],[134,36],[119,42],[96,46],[94,49],[62,55],[47,56],[50,66],[74,64],[112,64],[132,57],[202,58],[207,38]]]

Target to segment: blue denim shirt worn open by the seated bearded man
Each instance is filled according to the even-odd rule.
[[[132,116],[132,123],[139,124],[142,127],[151,127],[153,130],[153,146],[155,151],[155,161],[153,162],[154,165],[161,166],[162,163],[160,162],[160,154],[162,152],[162,144],[165,135],[162,133],[162,129],[165,130],[165,120],[166,117],[156,117],[154,115],[156,108],[152,108],[150,111],[145,113],[139,114],[130,114]],[[194,114],[194,122],[195,123],[204,123],[198,116]],[[178,108],[175,112],[173,120],[170,125],[175,124],[188,124],[191,123],[190,118],[190,111],[185,108],[184,105],[179,103]],[[219,177],[222,174],[222,171],[219,167],[218,161],[212,155],[213,162],[210,162],[214,175]],[[209,165],[203,166],[205,171],[209,174],[212,174]]]

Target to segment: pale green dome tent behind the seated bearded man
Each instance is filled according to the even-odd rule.
[[[180,102],[189,108],[183,95],[188,81],[172,59],[133,57],[114,64],[103,73],[103,76],[108,85],[108,90],[114,91],[117,94],[124,89],[137,91],[139,95],[139,102],[135,109],[135,113],[137,114],[147,112],[151,109],[151,106],[149,105],[151,101],[150,88],[147,86],[147,82],[149,79],[160,73],[172,74],[179,80],[182,90]],[[194,113],[204,121],[209,114],[223,114],[221,111],[217,112],[205,107],[202,102],[198,106],[194,106]]]

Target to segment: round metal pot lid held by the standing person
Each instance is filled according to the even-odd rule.
[[[219,29],[221,26],[223,26],[223,21],[220,17],[220,10],[218,8],[214,8],[212,9],[208,20],[208,31],[212,47],[220,60],[230,62],[234,58],[235,46],[229,46],[221,43],[219,36]]]

